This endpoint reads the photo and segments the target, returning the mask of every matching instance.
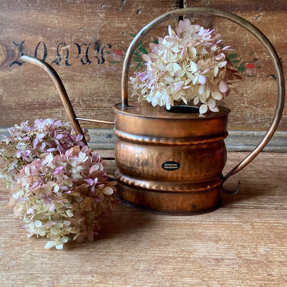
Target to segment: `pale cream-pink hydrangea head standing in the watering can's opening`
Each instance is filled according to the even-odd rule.
[[[174,30],[159,43],[150,43],[151,52],[143,55],[146,70],[130,77],[139,101],[147,100],[152,106],[174,106],[181,100],[199,105],[199,112],[217,112],[217,101],[229,94],[228,80],[238,77],[228,68],[226,50],[220,35],[214,30],[191,25],[188,19],[179,21]]]

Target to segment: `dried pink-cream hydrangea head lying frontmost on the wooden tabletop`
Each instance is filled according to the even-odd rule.
[[[70,239],[92,241],[98,217],[117,203],[116,182],[108,180],[103,166],[88,146],[43,153],[19,171],[8,206],[29,235],[51,239],[46,248],[61,249]]]

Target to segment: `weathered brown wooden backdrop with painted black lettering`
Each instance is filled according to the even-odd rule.
[[[121,97],[122,61],[132,34],[180,6],[208,6],[244,17],[266,34],[286,61],[284,0],[0,0],[0,127],[36,118],[67,120],[48,74],[19,62],[20,54],[44,59],[57,70],[78,117],[112,121],[112,105]],[[244,79],[227,101],[232,110],[229,130],[266,130],[277,101],[275,69],[268,53],[255,37],[230,21],[208,16],[194,21],[216,27],[224,42],[234,49],[232,54],[237,55],[232,60]],[[175,23],[176,19],[171,22]],[[149,41],[166,32],[164,24],[143,42],[148,47]],[[135,57],[130,73],[138,63]],[[83,126],[107,128],[92,123]],[[278,130],[285,137],[286,111]]]

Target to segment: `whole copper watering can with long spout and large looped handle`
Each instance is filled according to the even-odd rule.
[[[197,113],[172,113],[147,103],[128,101],[128,69],[132,55],[141,39],[155,26],[186,14],[210,14],[228,19],[253,34],[268,51],[276,70],[277,108],[264,139],[243,161],[222,175],[226,163],[226,131],[228,108],[220,107],[206,117]],[[72,108],[57,72],[34,57],[21,61],[34,63],[52,77],[73,128],[82,133],[79,120],[115,125],[117,136],[115,159],[118,196],[123,204],[151,212],[192,215],[215,210],[220,205],[222,184],[255,159],[273,136],[281,118],[285,83],[281,61],[270,41],[245,19],[212,8],[184,8],[162,14],[148,23],[130,43],[123,63],[121,103],[113,107],[115,122],[83,119]],[[228,192],[235,194],[239,190]],[[224,190],[225,191],[225,190]]]

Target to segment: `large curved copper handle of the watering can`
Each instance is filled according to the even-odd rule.
[[[266,135],[260,141],[255,150],[253,150],[253,152],[250,152],[250,154],[243,161],[241,161],[239,164],[237,164],[237,166],[235,166],[235,168],[233,168],[232,170],[230,170],[230,172],[227,173],[227,175],[224,177],[224,181],[226,181],[228,177],[230,177],[231,175],[235,175],[235,173],[239,172],[242,168],[244,168],[251,161],[253,161],[253,159],[255,159],[255,157],[257,157],[257,155],[259,154],[259,152],[261,152],[261,150],[264,148],[264,146],[266,146],[268,141],[270,141],[271,137],[273,136],[279,124],[284,108],[285,81],[281,61],[272,43],[270,43],[268,38],[252,23],[230,12],[225,12],[212,8],[184,8],[184,9],[173,10],[171,12],[167,12],[157,17],[156,19],[148,23],[148,25],[146,25],[143,29],[141,29],[141,31],[139,31],[139,33],[136,35],[136,37],[133,39],[133,41],[130,43],[130,46],[128,47],[126,58],[123,62],[123,73],[121,76],[121,103],[123,107],[128,106],[128,69],[130,67],[130,61],[132,59],[132,55],[135,52],[135,49],[137,48],[139,41],[141,41],[141,39],[148,32],[150,32],[150,30],[152,30],[152,28],[155,28],[160,23],[172,19],[174,17],[179,17],[185,14],[192,14],[192,13],[203,13],[221,17],[230,20],[234,23],[237,23],[239,26],[248,30],[248,32],[253,34],[266,48],[273,61],[276,70],[278,95],[277,95],[277,107],[275,110],[275,116],[273,117],[273,122],[271,123],[270,128],[266,132]]]

